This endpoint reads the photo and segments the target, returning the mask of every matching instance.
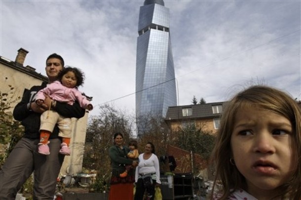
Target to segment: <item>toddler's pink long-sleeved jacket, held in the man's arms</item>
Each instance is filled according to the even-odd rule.
[[[86,109],[88,104],[91,104],[89,100],[77,88],[67,88],[62,85],[60,81],[54,81],[53,83],[47,84],[47,87],[38,91],[36,100],[45,100],[45,95],[48,95],[52,100],[59,102],[66,102],[70,105],[75,100],[78,101],[80,107]]]

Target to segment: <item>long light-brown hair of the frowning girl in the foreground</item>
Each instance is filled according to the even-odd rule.
[[[295,172],[288,183],[281,186],[282,198],[294,200],[301,199],[301,107],[296,100],[293,100],[286,93],[267,86],[252,86],[235,95],[226,103],[222,114],[220,129],[216,138],[216,144],[212,154],[212,161],[216,167],[212,197],[216,183],[220,179],[223,185],[221,200],[226,200],[231,191],[246,188],[245,177],[238,169],[230,163],[232,150],[230,145],[233,131],[234,119],[237,111],[244,106],[256,106],[282,115],[290,120],[293,129],[293,149],[296,150]]]

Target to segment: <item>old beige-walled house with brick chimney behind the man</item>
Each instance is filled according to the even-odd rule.
[[[20,101],[18,97],[22,98],[25,89],[30,89],[34,85],[41,85],[43,81],[48,81],[48,78],[37,72],[34,67],[23,66],[25,58],[29,52],[23,48],[18,50],[15,61],[0,56],[0,93],[11,93],[12,112],[13,107]],[[46,59],[46,58],[45,58]],[[11,90],[11,88],[14,88]],[[81,172],[84,144],[86,137],[88,120],[88,111],[84,117],[80,119],[72,119],[72,139],[71,139],[71,156],[65,156],[63,166],[61,168],[61,175],[75,174]]]

